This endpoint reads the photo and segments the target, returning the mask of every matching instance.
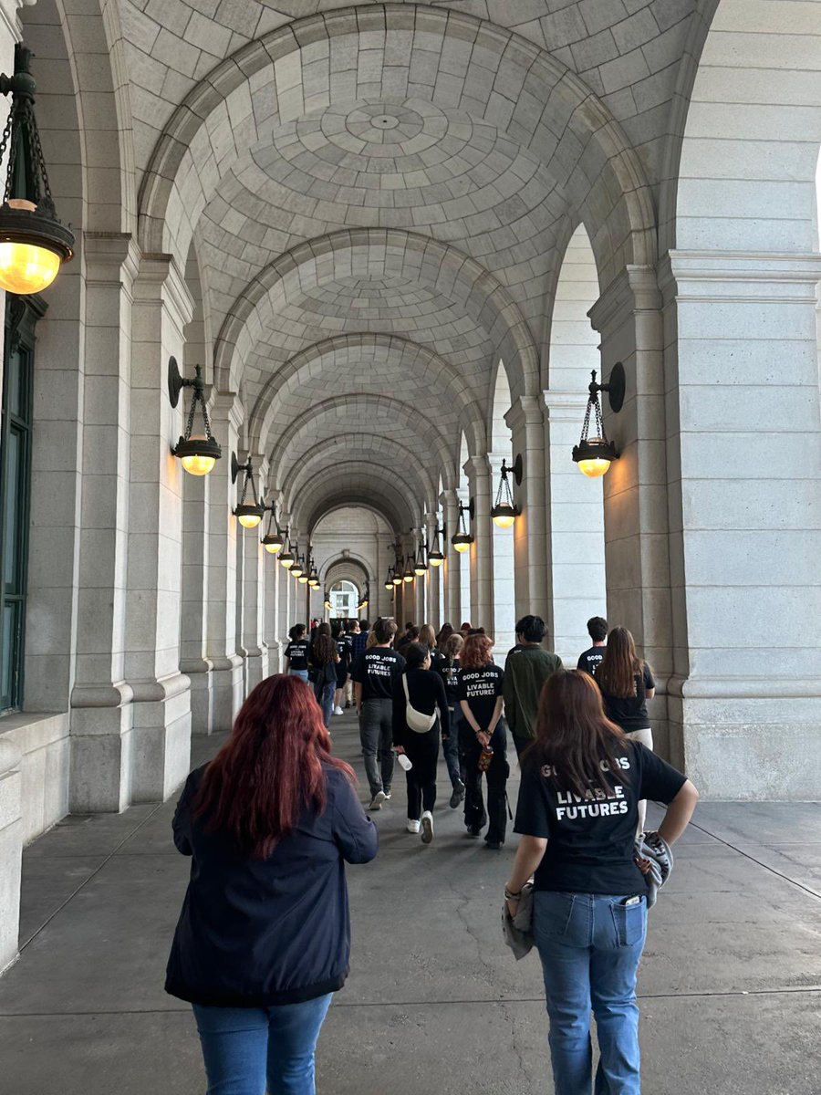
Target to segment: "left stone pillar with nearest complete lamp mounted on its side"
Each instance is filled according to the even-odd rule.
[[[126,679],[134,692],[132,799],[164,799],[185,779],[190,690],[180,672],[182,476],[171,454],[182,407],[167,394],[193,302],[169,256],[142,256],[134,283]]]

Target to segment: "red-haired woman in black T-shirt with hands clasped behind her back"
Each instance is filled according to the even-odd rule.
[[[460,746],[464,758],[464,820],[469,837],[478,837],[485,825],[485,843],[498,851],[507,828],[506,787],[510,766],[507,734],[501,718],[505,678],[494,665],[493,639],[469,635],[460,655],[456,696],[462,710]],[[482,775],[487,776],[487,814],[482,796]]]

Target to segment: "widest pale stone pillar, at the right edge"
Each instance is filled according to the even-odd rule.
[[[819,277],[818,254],[660,264],[672,752],[706,797],[818,796]]]

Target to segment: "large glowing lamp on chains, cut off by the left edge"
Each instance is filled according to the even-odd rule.
[[[8,152],[0,206],[0,288],[25,296],[42,292],[74,254],[74,233],[60,223],[48,185],[46,161],[34,117],[36,84],[32,53],[14,46],[14,74],[0,76],[0,94],[11,111],[0,138],[0,161]]]

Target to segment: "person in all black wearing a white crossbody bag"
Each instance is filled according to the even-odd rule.
[[[393,682],[393,746],[410,761],[407,780],[407,831],[429,844],[433,839],[436,766],[439,738],[450,734],[448,695],[441,676],[430,668],[424,643],[404,649],[405,672]],[[403,765],[404,766],[404,765]]]

